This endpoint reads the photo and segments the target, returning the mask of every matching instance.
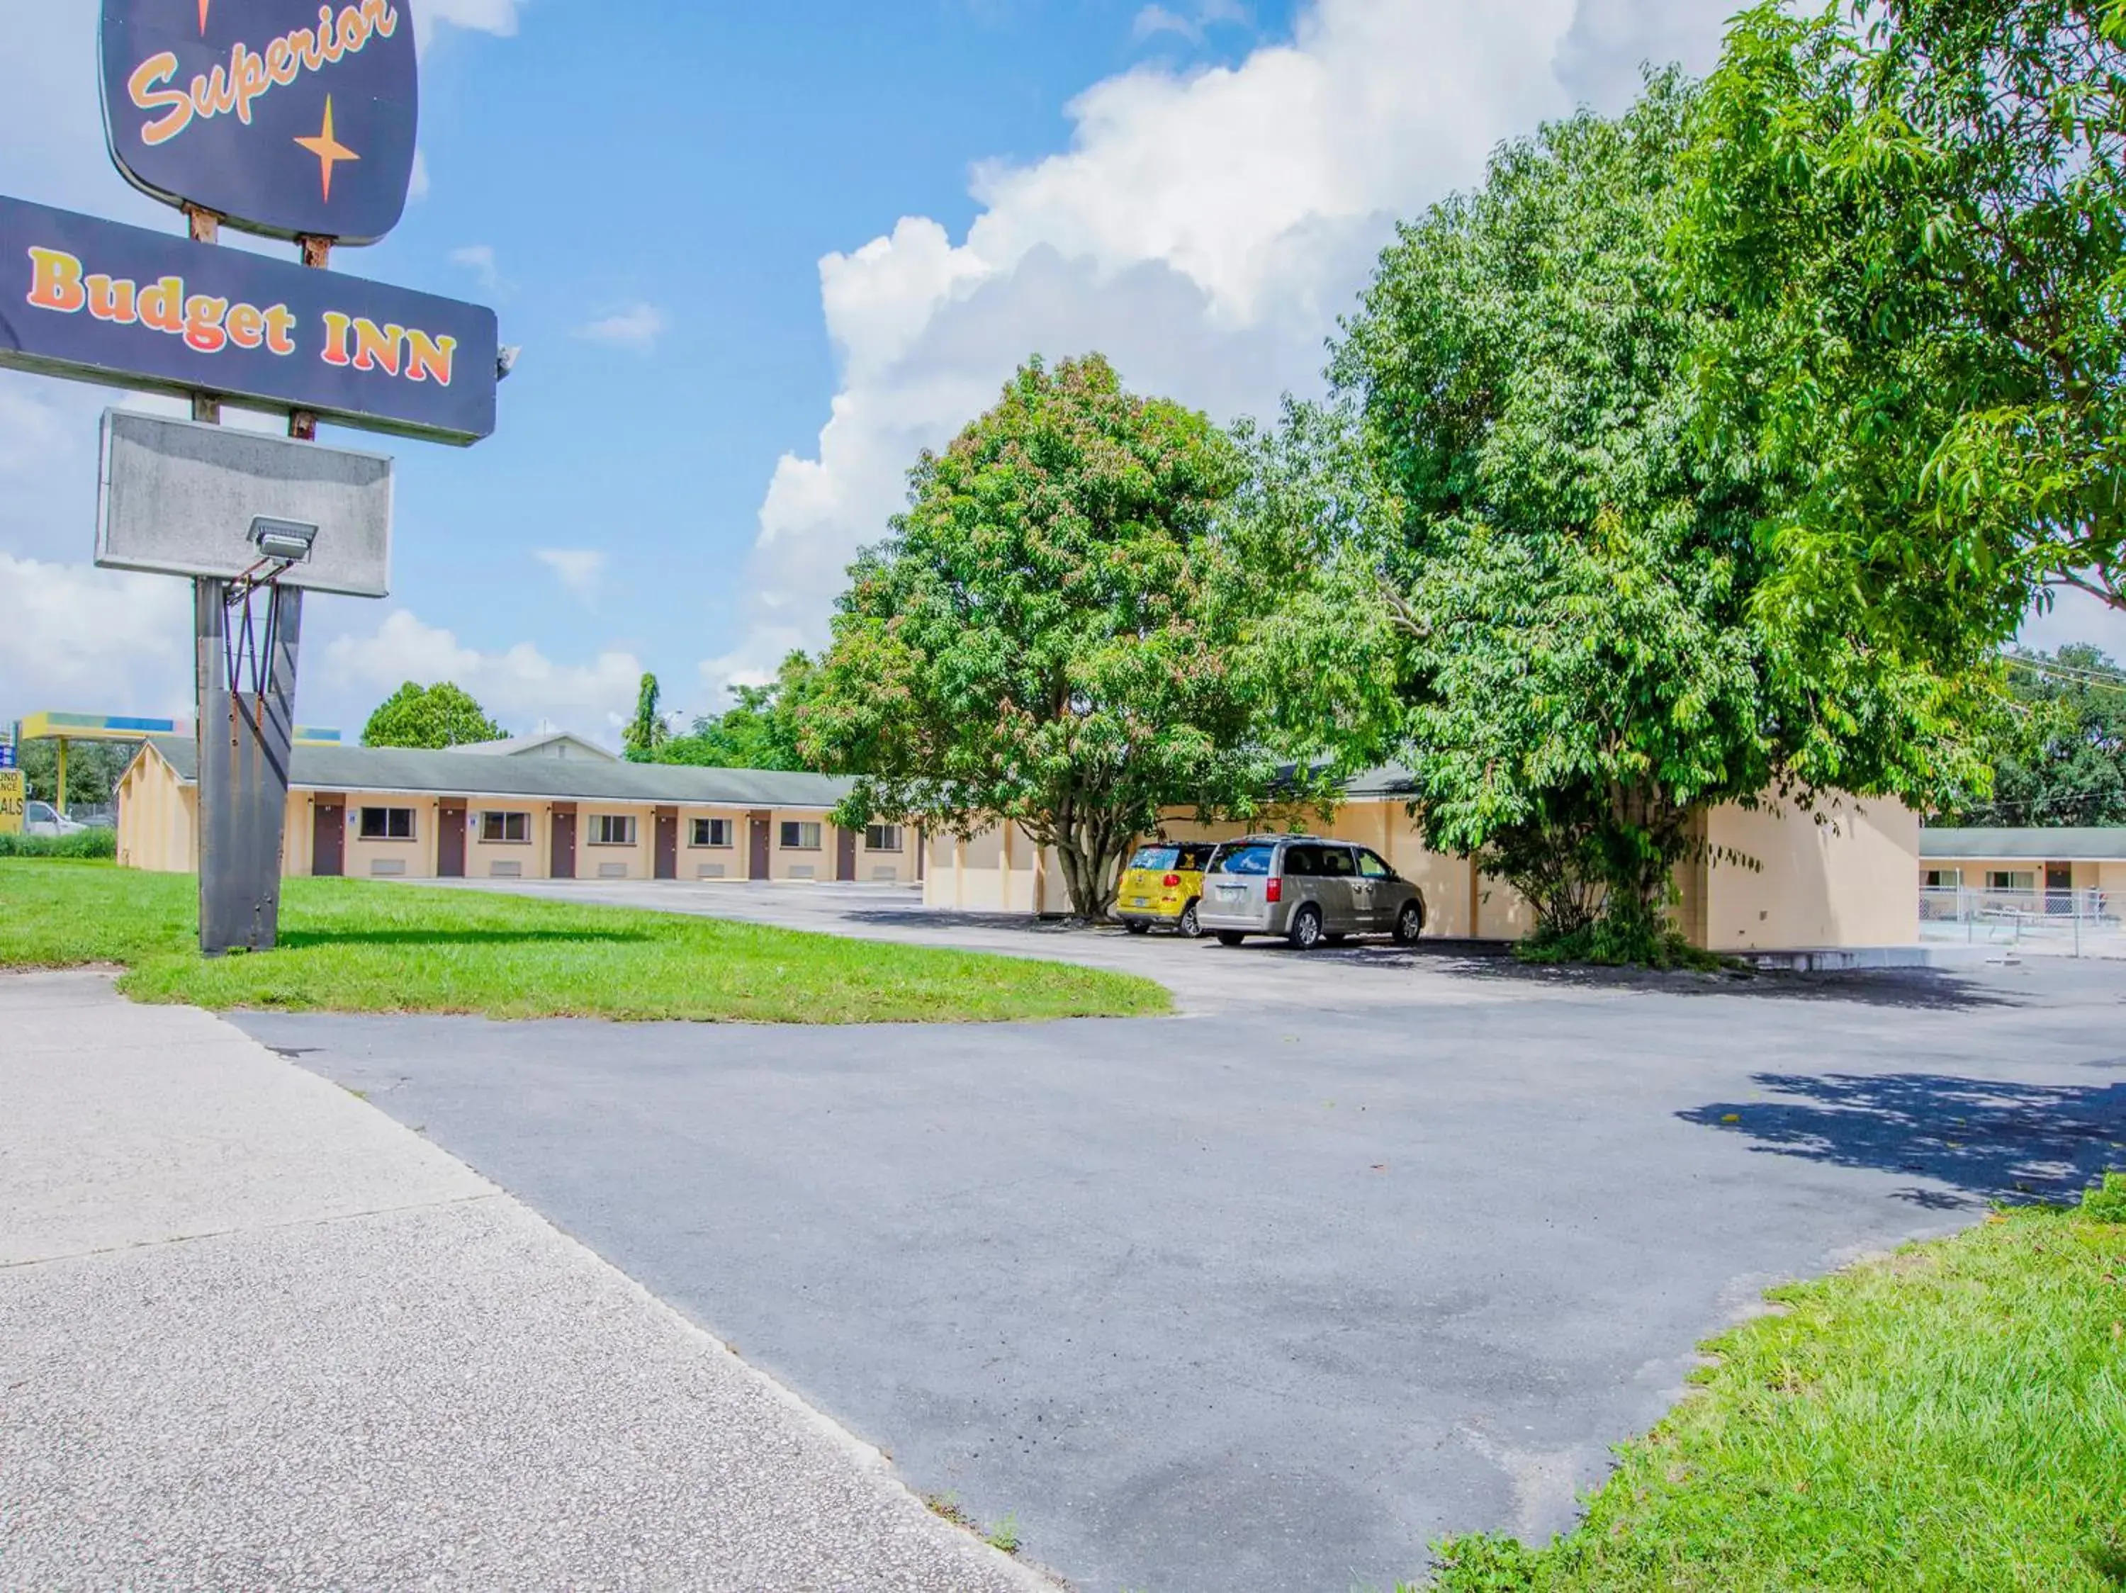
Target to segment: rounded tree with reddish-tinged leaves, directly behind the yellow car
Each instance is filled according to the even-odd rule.
[[[1259,791],[1246,583],[1218,532],[1239,479],[1216,425],[1099,355],[1020,368],[850,568],[804,712],[806,751],[861,776],[842,821],[1012,821],[1097,917],[1165,808]]]

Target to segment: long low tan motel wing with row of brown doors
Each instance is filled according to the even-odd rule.
[[[576,736],[449,751],[296,747],[283,874],[914,885],[899,825],[840,829],[848,781],[627,764]],[[119,863],[198,868],[198,749],[153,736],[119,781]]]

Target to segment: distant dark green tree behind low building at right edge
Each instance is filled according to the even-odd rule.
[[[1992,798],[1952,823],[2126,825],[2126,670],[2094,647],[2007,659]]]

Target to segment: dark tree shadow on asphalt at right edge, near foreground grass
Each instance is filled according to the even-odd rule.
[[[1754,1083],[1788,1100],[1714,1102],[1677,1117],[1743,1134],[1765,1155],[1901,1172],[1962,1191],[1899,1191],[1899,1200],[1943,1210],[2071,1200],[2107,1168],[2126,1168],[2126,1083],[1947,1074],[1756,1074]]]

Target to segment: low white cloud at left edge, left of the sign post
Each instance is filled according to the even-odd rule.
[[[0,719],[191,712],[191,583],[0,553]]]

